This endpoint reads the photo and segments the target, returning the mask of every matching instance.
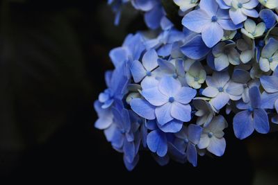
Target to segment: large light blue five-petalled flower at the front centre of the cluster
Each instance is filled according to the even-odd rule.
[[[170,76],[161,79],[158,87],[142,89],[142,96],[155,108],[158,124],[167,127],[168,132],[178,132],[183,122],[191,119],[188,105],[195,97],[196,90],[182,87],[181,82]]]

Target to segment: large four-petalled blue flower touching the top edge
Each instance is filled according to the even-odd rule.
[[[202,39],[208,47],[213,47],[223,37],[223,30],[236,30],[241,24],[234,24],[227,10],[219,8],[215,0],[200,1],[200,9],[189,12],[183,17],[182,24],[186,28],[202,33]]]

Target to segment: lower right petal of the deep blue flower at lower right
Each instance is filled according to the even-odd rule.
[[[269,132],[270,126],[268,123],[268,114],[264,109],[254,110],[254,128],[256,132],[261,134],[266,134]]]

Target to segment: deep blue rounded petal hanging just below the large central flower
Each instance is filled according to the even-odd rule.
[[[160,130],[153,130],[147,135],[147,146],[152,152],[156,152],[159,157],[167,154],[167,139]]]

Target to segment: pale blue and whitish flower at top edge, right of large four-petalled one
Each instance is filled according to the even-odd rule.
[[[220,8],[229,9],[229,15],[234,24],[240,24],[247,17],[259,17],[259,13],[254,9],[258,0],[218,0]]]

